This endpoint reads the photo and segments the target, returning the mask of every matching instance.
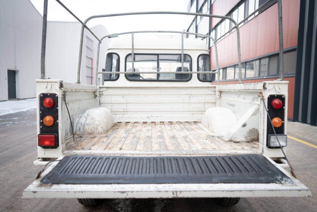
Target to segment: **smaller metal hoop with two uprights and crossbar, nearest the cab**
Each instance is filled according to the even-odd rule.
[[[133,39],[133,34],[134,33],[180,33],[182,34],[182,71],[181,72],[175,72],[175,73],[180,73],[180,74],[184,74],[188,72],[184,72],[184,34],[189,34],[189,35],[197,35],[197,37],[199,38],[210,38],[213,41],[215,40],[213,37],[211,37],[210,35],[204,35],[204,34],[199,34],[199,33],[193,33],[193,32],[183,32],[183,31],[129,31],[129,32],[122,32],[122,33],[115,33],[115,34],[110,34],[110,35],[106,35],[104,37],[102,37],[100,39],[100,42],[98,43],[98,49],[97,49],[97,61],[96,61],[96,78],[95,78],[95,85],[97,85],[97,74],[107,74],[107,73],[113,73],[114,72],[98,72],[98,66],[99,66],[99,52],[100,52],[100,44],[102,42],[102,40],[104,38],[115,38],[118,37],[119,35],[125,35],[125,34],[131,34],[132,37],[132,58],[133,54],[134,54],[134,39]],[[210,50],[209,50],[210,51]],[[218,65],[218,53],[217,53],[217,44],[215,44],[215,52],[216,52],[216,65],[217,65],[217,72],[211,72],[211,73],[217,73],[218,79],[217,79],[217,83],[219,85],[219,65]],[[134,64],[133,64],[133,59],[132,59],[132,70],[134,68]],[[211,71],[211,70],[210,70]],[[123,74],[126,72],[115,72],[115,74]],[[157,73],[157,72],[142,72],[142,73]],[[160,73],[165,73],[165,72],[160,72]],[[174,72],[166,72],[166,73],[174,73]],[[196,72],[191,72],[191,73],[196,73]],[[198,73],[210,73],[210,72],[198,72]]]

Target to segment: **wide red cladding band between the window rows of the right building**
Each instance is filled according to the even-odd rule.
[[[283,0],[284,49],[297,45],[300,0]],[[224,14],[222,14],[224,15]],[[241,59],[247,60],[279,51],[277,3],[240,28]],[[236,31],[218,44],[219,67],[238,62]],[[211,47],[211,66],[216,69],[215,49]]]

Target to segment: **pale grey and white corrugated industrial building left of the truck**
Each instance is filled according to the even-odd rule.
[[[0,101],[34,98],[35,79],[41,76],[43,17],[29,0],[0,1]],[[102,25],[91,27],[102,37]],[[81,24],[48,21],[45,77],[77,81]],[[100,45],[99,72],[105,66],[109,40]],[[98,41],[84,31],[81,83],[94,84]],[[99,78],[102,76],[100,75]],[[102,84],[102,79],[99,83]]]

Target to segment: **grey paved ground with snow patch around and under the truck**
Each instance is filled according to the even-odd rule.
[[[317,127],[288,122],[288,135],[317,145]],[[88,208],[76,199],[21,199],[41,167],[36,159],[36,110],[0,116],[0,211],[316,211],[317,148],[288,139],[287,155],[313,197],[243,198],[230,208],[212,199],[115,199]]]

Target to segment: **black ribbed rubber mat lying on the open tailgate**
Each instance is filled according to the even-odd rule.
[[[292,183],[263,155],[65,156],[42,183]]]

